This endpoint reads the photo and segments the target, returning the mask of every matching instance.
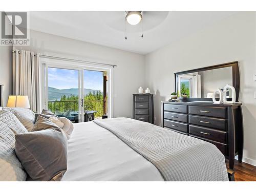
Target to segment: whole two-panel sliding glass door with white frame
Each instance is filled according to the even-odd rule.
[[[108,69],[43,64],[44,108],[74,123],[111,117]]]

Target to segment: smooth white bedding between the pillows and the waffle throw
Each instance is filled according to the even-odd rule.
[[[61,181],[164,181],[150,161],[94,122],[74,124]]]

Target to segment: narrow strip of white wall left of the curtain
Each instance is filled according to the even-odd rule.
[[[0,46],[0,83],[3,87],[3,106],[12,94],[12,47]]]

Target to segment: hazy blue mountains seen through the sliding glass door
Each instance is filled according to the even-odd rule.
[[[84,89],[84,95],[88,95],[90,92],[97,92],[98,90],[93,89]],[[61,96],[66,95],[66,97],[69,97],[71,95],[77,96],[78,95],[78,89],[56,89],[52,87],[48,87],[48,100],[49,101],[55,101],[56,99],[59,101]]]

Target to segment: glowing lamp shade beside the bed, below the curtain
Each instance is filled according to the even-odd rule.
[[[30,109],[29,97],[27,95],[10,95],[7,106],[8,108]]]

